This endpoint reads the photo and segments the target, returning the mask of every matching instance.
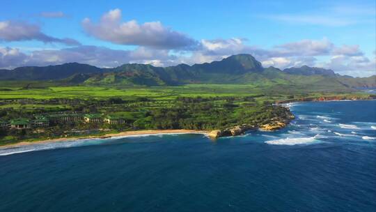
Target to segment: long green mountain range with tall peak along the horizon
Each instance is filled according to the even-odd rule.
[[[221,61],[180,64],[166,68],[146,64],[124,64],[116,68],[97,68],[79,63],[59,66],[21,67],[0,70],[1,79],[59,80],[65,84],[88,85],[178,85],[178,84],[252,84],[254,86],[336,89],[376,87],[376,76],[354,78],[333,70],[301,66],[300,68],[263,68],[250,54],[237,54]]]

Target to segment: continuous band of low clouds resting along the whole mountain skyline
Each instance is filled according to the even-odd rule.
[[[148,63],[154,66],[174,66],[179,63],[205,63],[221,60],[232,54],[252,54],[264,67],[290,68],[292,66],[316,66],[330,68],[337,73],[353,76],[369,76],[376,73],[375,59],[363,55],[358,45],[337,47],[327,38],[298,40],[275,47],[246,45],[241,38],[201,40],[196,50],[176,51],[150,47],[135,50],[111,50],[107,47],[81,45],[61,50],[29,50],[24,54],[18,49],[0,47],[0,68],[18,66],[47,66],[68,62],[88,63],[98,67],[116,67],[123,63]],[[318,56],[329,56],[320,61]]]

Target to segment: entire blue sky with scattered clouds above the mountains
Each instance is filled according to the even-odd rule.
[[[252,54],[264,67],[376,75],[376,1],[2,0],[0,68],[174,66]]]

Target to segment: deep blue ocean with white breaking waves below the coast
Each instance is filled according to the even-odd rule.
[[[376,101],[288,106],[276,132],[0,149],[0,211],[376,211]]]

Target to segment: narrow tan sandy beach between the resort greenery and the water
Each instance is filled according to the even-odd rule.
[[[118,133],[109,133],[105,135],[88,135],[88,136],[78,136],[78,137],[62,137],[62,138],[55,138],[55,139],[44,139],[38,140],[35,142],[18,142],[15,144],[6,144],[0,146],[0,149],[8,149],[13,147],[19,146],[29,146],[33,144],[48,144],[48,143],[55,143],[55,142],[71,142],[77,139],[109,139],[112,137],[132,137],[137,135],[169,135],[169,134],[189,134],[189,133],[198,133],[207,135],[208,132],[205,130],[135,130],[135,131],[125,131],[125,132],[118,132]]]

